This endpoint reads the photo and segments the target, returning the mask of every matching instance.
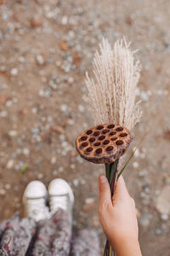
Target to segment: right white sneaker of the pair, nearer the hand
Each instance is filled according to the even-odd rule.
[[[50,212],[53,214],[59,208],[72,212],[74,195],[71,186],[62,178],[54,179],[48,186]]]

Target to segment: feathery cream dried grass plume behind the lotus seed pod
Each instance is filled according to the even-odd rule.
[[[86,73],[86,85],[95,124],[114,123],[132,130],[141,111],[135,102],[139,81],[139,61],[126,40],[116,41],[113,49],[103,38],[94,54],[94,78]]]

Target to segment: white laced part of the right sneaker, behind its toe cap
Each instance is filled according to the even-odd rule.
[[[68,195],[51,195],[50,196],[50,210],[56,212],[58,208],[64,211],[68,208]]]

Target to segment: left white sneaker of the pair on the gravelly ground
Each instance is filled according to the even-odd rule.
[[[22,198],[25,216],[34,218],[36,221],[49,218],[47,200],[47,189],[42,182],[35,180],[29,183]]]

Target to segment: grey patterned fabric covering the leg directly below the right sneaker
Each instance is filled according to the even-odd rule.
[[[67,256],[70,252],[71,216],[59,209],[52,218],[37,223],[33,255]]]

